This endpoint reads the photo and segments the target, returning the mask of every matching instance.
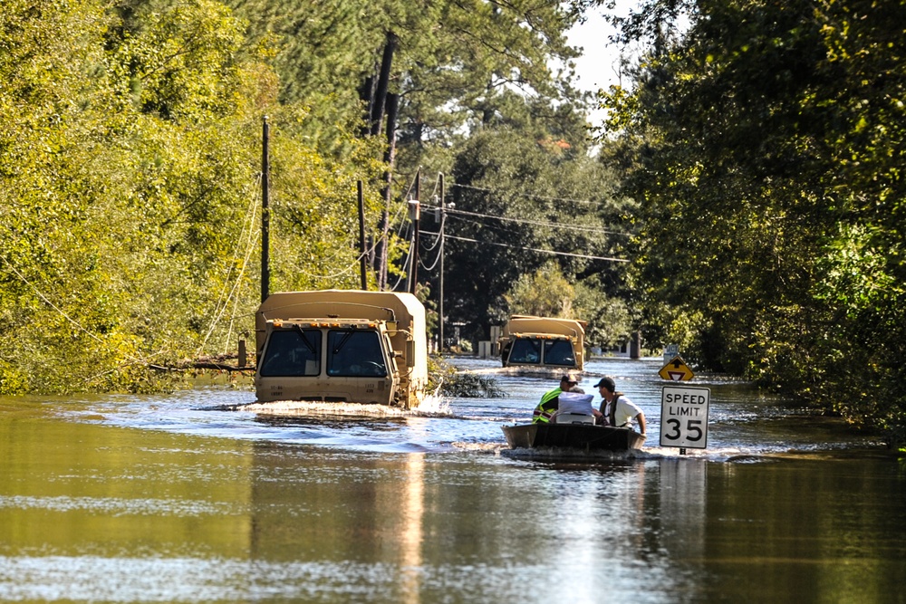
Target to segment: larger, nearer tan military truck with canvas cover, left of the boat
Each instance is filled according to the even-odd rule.
[[[259,402],[418,407],[428,385],[425,307],[411,293],[277,292],[255,313]]]

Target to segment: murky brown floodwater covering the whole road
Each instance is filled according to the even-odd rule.
[[[405,416],[0,398],[0,601],[906,601],[902,461],[700,377],[708,447],[660,447],[661,364],[586,367],[649,418],[642,451],[593,458],[506,449],[543,379]]]

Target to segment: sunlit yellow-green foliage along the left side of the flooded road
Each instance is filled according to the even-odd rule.
[[[342,128],[342,153],[312,149],[242,30],[207,0],[5,4],[0,392],[161,388],[177,374],[149,367],[235,350],[259,297],[267,113],[275,283],[353,283],[374,149]]]

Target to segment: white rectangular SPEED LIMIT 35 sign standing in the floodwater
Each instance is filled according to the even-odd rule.
[[[707,448],[710,398],[710,388],[665,386],[660,398],[660,446]]]

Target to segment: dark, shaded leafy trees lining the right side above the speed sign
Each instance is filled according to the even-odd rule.
[[[635,91],[606,97],[625,190],[643,201],[651,315],[693,319],[675,335],[704,367],[890,430],[906,360],[892,340],[906,322],[903,6],[699,2],[681,38],[652,44]]]

